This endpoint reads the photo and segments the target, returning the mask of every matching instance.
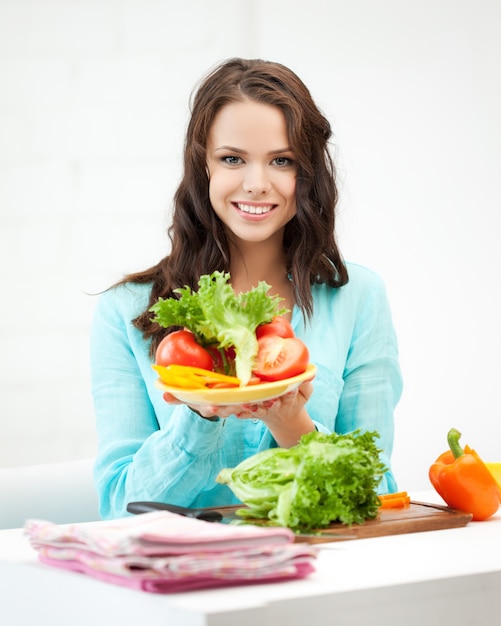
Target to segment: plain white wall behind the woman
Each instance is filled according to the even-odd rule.
[[[189,94],[229,56],[332,122],[340,243],[400,339],[400,486],[451,426],[501,460],[499,32],[495,0],[0,0],[0,465],[95,452],[87,293],[164,254]]]

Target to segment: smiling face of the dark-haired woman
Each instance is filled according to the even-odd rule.
[[[237,239],[279,235],[296,214],[296,163],[282,111],[252,100],[224,106],[207,144],[209,197]]]

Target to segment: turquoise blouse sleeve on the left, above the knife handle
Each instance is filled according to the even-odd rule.
[[[103,518],[125,515],[127,503],[137,500],[189,506],[214,488],[223,465],[224,420],[204,420],[185,405],[168,405],[158,389],[152,399],[148,345],[132,325],[134,315],[120,289],[126,287],[100,297],[91,332],[99,442],[94,472]]]

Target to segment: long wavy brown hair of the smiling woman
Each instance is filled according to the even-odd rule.
[[[329,122],[304,83],[284,65],[229,59],[202,80],[192,97],[184,171],[168,229],[171,252],[153,267],[129,274],[119,283],[152,284],[148,308],[133,320],[145,339],[152,338],[152,352],[167,331],[151,321],[149,307],[159,297],[174,296],[178,287],[197,289],[202,274],[229,271],[228,239],[209,201],[207,141],[217,113],[229,103],[244,100],[278,107],[286,119],[297,163],[297,213],[285,227],[284,249],[297,305],[310,317],[313,283],[340,287],[348,282],[335,237],[338,192],[329,153]]]

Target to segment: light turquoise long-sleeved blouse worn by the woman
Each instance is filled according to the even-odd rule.
[[[318,368],[307,410],[318,430],[376,430],[388,471],[380,492],[397,485],[391,472],[393,412],[402,391],[398,347],[384,285],[377,274],[348,263],[344,287],[312,287],[306,324],[292,326]],[[126,515],[128,502],[181,506],[235,504],[215,478],[225,467],[276,443],[259,420],[202,419],[169,405],[155,387],[149,342],[131,323],[148,305],[149,285],[114,287],[98,300],[91,332],[91,374],[98,454],[95,481],[104,519]]]

